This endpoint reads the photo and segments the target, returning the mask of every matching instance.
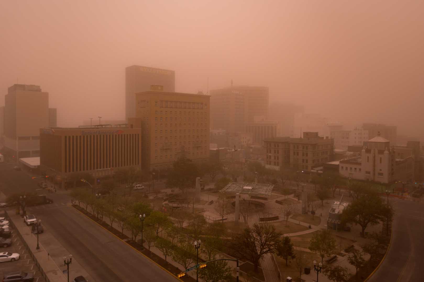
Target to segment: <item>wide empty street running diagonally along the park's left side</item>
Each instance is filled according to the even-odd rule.
[[[0,189],[6,196],[36,191],[39,182],[36,180],[31,179],[29,172],[13,170],[12,164],[0,165]],[[92,277],[90,281],[177,281],[151,260],[68,206],[70,197],[66,193],[39,192],[47,194],[54,203],[27,208],[28,213],[42,220],[46,229]]]

